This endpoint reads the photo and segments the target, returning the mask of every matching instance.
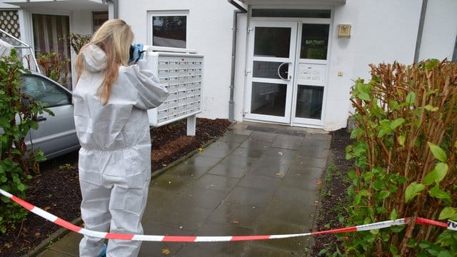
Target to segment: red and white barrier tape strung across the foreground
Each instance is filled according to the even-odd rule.
[[[76,233],[80,233],[86,236],[94,236],[97,238],[106,238],[106,239],[119,239],[119,240],[134,240],[134,241],[154,241],[154,242],[228,242],[228,241],[253,241],[253,240],[266,240],[266,239],[278,239],[278,238],[294,238],[301,236],[314,236],[324,233],[346,233],[346,232],[356,232],[356,231],[369,231],[372,229],[379,228],[388,228],[391,226],[401,226],[408,223],[411,218],[398,218],[393,221],[381,221],[371,224],[365,224],[360,226],[352,226],[348,228],[338,228],[331,229],[328,231],[318,231],[311,233],[296,233],[296,234],[283,234],[283,235],[265,235],[265,236],[154,236],[154,235],[134,235],[134,234],[125,234],[125,233],[106,233],[98,231],[90,231],[86,228],[81,228],[76,226],[68,221],[52,215],[51,213],[38,208],[31,203],[28,203],[21,198],[11,195],[4,190],[0,189],[0,193],[11,200],[19,203],[22,207],[27,210],[35,213],[41,218],[46,218],[48,221],[54,222],[57,225],[67,228]],[[427,218],[416,218],[416,224],[419,225],[430,225],[430,226],[439,226],[442,228],[448,228],[453,231],[457,231],[457,222],[448,221],[448,223],[443,223],[440,221],[432,221]]]

